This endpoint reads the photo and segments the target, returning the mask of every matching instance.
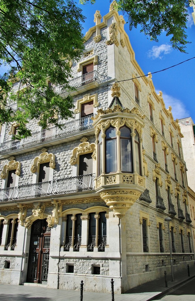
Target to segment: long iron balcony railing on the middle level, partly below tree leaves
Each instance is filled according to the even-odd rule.
[[[21,140],[10,140],[0,144],[0,154],[12,151],[18,148],[25,147],[27,145],[33,145],[38,142],[50,140],[57,137],[62,137],[71,133],[83,131],[85,129],[92,128],[91,116],[85,116],[80,119],[74,119],[69,122],[63,123],[62,128],[53,126],[49,129],[45,129],[39,132],[32,133],[32,136]]]

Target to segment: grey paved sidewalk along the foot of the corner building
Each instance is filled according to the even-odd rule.
[[[129,290],[125,294],[115,294],[115,301],[152,301],[168,293],[176,287],[195,277],[195,267],[190,269],[188,277],[187,269],[174,274],[175,280],[171,281],[171,275],[167,276],[168,287],[165,287],[164,277],[147,282]],[[79,301],[80,291],[47,289],[41,286],[23,286],[0,284],[1,301]],[[111,301],[111,293],[92,293],[83,291],[83,301]]]

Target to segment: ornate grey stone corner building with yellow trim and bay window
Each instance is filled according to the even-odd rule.
[[[75,119],[61,130],[34,120],[21,141],[11,140],[17,124],[2,127],[1,283],[83,280],[108,292],[113,278],[125,292],[170,273],[167,216],[174,271],[194,264],[179,124],[137,64],[123,17],[111,4],[95,22],[72,63]]]

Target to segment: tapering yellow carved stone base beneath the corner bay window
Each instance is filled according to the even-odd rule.
[[[107,206],[113,210],[115,216],[122,218],[142,192],[141,190],[111,190],[101,192],[100,196]]]

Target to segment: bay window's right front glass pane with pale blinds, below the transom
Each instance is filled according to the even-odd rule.
[[[121,139],[121,171],[132,172],[131,139]]]

